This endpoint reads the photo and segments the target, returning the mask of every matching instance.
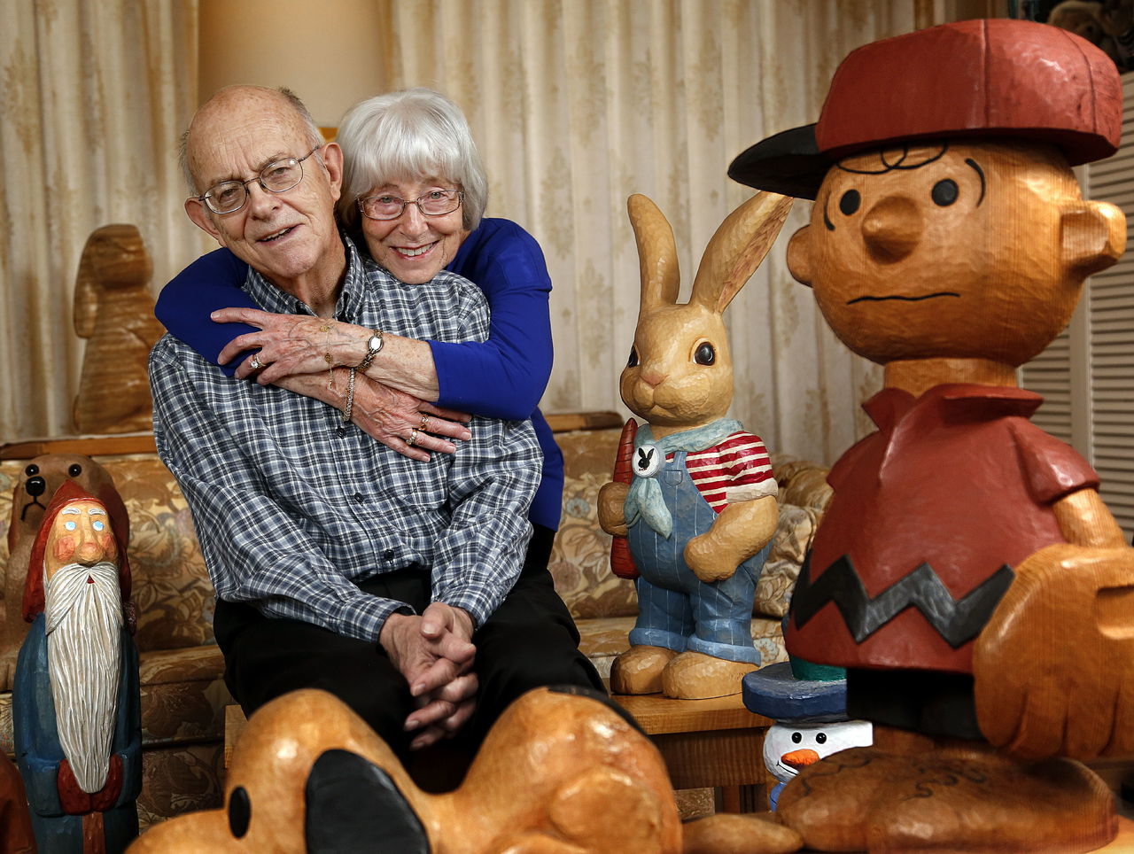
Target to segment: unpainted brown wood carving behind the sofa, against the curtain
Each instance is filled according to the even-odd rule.
[[[75,280],[75,332],[86,338],[75,398],[81,433],[152,429],[146,362],[164,330],[153,316],[150,260],[134,226],[103,226],[83,247]]]

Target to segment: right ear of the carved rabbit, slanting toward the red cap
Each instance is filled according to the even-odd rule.
[[[689,302],[722,313],[776,243],[794,201],[756,193],[728,214],[701,256]]]

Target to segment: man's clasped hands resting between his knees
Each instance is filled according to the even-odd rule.
[[[379,644],[405,676],[417,708],[406,718],[406,732],[416,732],[411,750],[450,738],[476,707],[473,620],[460,608],[431,603],[421,616],[391,614]]]

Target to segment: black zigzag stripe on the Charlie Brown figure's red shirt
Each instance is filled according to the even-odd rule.
[[[846,555],[812,583],[809,552],[792,595],[792,616],[796,626],[802,627],[820,608],[833,602],[855,643],[862,643],[903,610],[913,607],[950,646],[957,649],[980,634],[1015,575],[1012,567],[1005,564],[980,586],[957,600],[933,567],[922,564],[872,599]]]

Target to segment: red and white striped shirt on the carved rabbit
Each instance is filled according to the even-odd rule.
[[[701,497],[717,513],[737,501],[775,496],[779,489],[763,441],[743,430],[720,445],[689,451],[685,467]]]

